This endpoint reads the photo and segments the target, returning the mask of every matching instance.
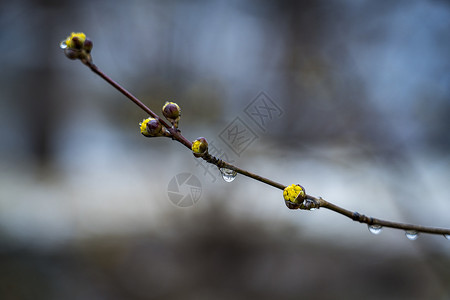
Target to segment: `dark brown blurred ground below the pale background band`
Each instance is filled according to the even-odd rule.
[[[3,299],[447,299],[445,255],[427,258],[301,240],[223,207],[163,233],[102,236],[2,255]]]

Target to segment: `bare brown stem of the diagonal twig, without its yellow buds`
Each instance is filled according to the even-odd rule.
[[[159,122],[167,128],[167,130],[171,133],[172,139],[180,142],[187,148],[192,148],[192,142],[190,142],[188,139],[186,139],[179,130],[173,128],[172,126],[168,125],[163,119],[161,119],[157,114],[155,114],[151,109],[149,109],[144,103],[142,103],[139,99],[137,99],[135,96],[133,96],[130,92],[128,92],[126,89],[124,89],[121,85],[119,85],[117,82],[112,80],[109,76],[107,76],[105,73],[103,73],[96,65],[92,63],[90,60],[82,60],[83,63],[88,66],[94,73],[99,75],[101,78],[106,80],[109,84],[111,84],[114,88],[116,88],[119,92],[124,94],[128,99],[133,101],[136,105],[138,105],[142,110],[144,110],[146,113],[148,113],[153,118],[159,120]],[[202,157],[205,161],[208,163],[216,165],[219,169],[220,168],[227,168],[230,170],[234,170],[239,174],[242,174],[244,176],[250,177],[252,179],[258,180],[260,182],[263,182],[265,184],[271,185],[273,187],[276,187],[280,190],[284,190],[286,188],[285,185],[275,182],[273,180],[270,180],[268,178],[259,176],[257,174],[251,173],[249,171],[246,171],[244,169],[238,168],[230,163],[227,163],[221,159],[218,159],[209,153],[206,153]],[[430,234],[442,234],[446,237],[450,235],[450,229],[446,228],[436,228],[436,227],[426,227],[426,226],[420,226],[420,225],[414,225],[414,224],[405,224],[405,223],[398,223],[398,222],[391,222],[391,221],[385,221],[381,219],[376,219],[372,217],[367,217],[365,215],[359,214],[357,212],[352,212],[349,210],[346,210],[342,207],[339,207],[331,202],[325,201],[322,198],[316,198],[314,196],[306,195],[306,199],[309,199],[314,202],[314,205],[312,208],[319,208],[323,207],[329,210],[332,210],[338,214],[344,215],[353,221],[357,221],[360,223],[365,223],[369,226],[382,226],[382,227],[390,227],[390,228],[396,228],[396,229],[402,229],[405,231],[411,231],[414,232],[422,232],[422,233],[430,233]],[[306,208],[302,208],[306,209]]]

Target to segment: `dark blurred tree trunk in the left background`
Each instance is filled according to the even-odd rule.
[[[25,72],[22,79],[24,90],[22,90],[23,111],[26,112],[24,120],[27,120],[27,139],[30,143],[30,154],[34,161],[41,167],[45,167],[50,162],[53,151],[52,135],[57,126],[56,112],[57,101],[55,99],[54,82],[56,70],[52,61],[55,59],[50,55],[52,48],[57,47],[54,38],[54,28],[57,28],[59,18],[54,17],[61,11],[61,5],[65,2],[52,0],[37,0],[32,2],[32,11],[37,13],[36,28],[33,40],[36,41],[31,47],[30,53],[37,63],[32,65]]]

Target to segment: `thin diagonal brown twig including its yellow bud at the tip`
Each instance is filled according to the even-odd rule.
[[[105,73],[103,73],[93,62],[92,57],[90,54],[90,51],[92,49],[92,42],[86,38],[84,33],[72,33],[70,37],[68,37],[65,41],[61,43],[61,48],[65,50],[65,54],[70,59],[80,59],[81,62],[89,67],[95,74],[99,75],[101,78],[103,78],[106,82],[108,82],[110,85],[112,85],[115,89],[117,89],[119,92],[121,92],[123,95],[125,95],[128,99],[130,99],[132,102],[134,102],[137,106],[139,106],[143,111],[145,111],[147,114],[149,114],[152,118],[156,119],[162,126],[165,127],[165,129],[168,132],[167,136],[170,136],[173,140],[176,140],[180,142],[182,145],[187,147],[190,150],[193,150],[193,143],[186,139],[178,130],[176,124],[169,125],[166,123],[162,118],[160,118],[157,114],[155,114],[150,108],[148,108],[144,103],[142,103],[138,98],[133,96],[130,92],[128,92],[126,89],[124,89],[120,84],[112,80],[109,76],[107,76]],[[204,140],[204,138],[202,138]],[[204,141],[206,143],[206,140]],[[205,146],[205,145],[201,145]],[[194,150],[193,150],[194,151]],[[275,182],[273,180],[270,180],[268,178],[262,177],[260,175],[251,173],[249,171],[246,171],[244,169],[241,169],[237,166],[234,166],[230,163],[227,163],[221,159],[218,159],[207,151],[207,143],[206,148],[202,153],[195,153],[194,155],[196,157],[201,157],[206,162],[213,164],[217,166],[220,170],[227,169],[232,170],[236,173],[242,174],[244,176],[247,176],[249,178],[252,178],[254,180],[263,182],[265,184],[268,184],[270,186],[273,186],[275,188],[278,188],[280,190],[283,190],[286,192],[286,190],[289,188],[288,186],[285,186],[281,183]],[[235,174],[236,174],[235,173]],[[374,230],[379,230],[382,227],[389,227],[389,228],[395,228],[395,229],[401,229],[405,230],[407,235],[411,235],[411,239],[415,239],[417,236],[417,233],[429,233],[429,234],[442,234],[447,239],[450,239],[450,229],[446,228],[436,228],[436,227],[427,227],[427,226],[421,226],[421,225],[414,225],[414,224],[405,224],[405,223],[399,223],[399,222],[392,222],[392,221],[386,221],[381,220],[377,218],[372,218],[365,216],[363,214],[359,214],[358,212],[352,212],[347,209],[344,209],[342,207],[339,207],[331,202],[325,201],[323,198],[316,198],[314,196],[308,195],[304,192],[304,189],[300,187],[300,185],[297,185],[297,187],[293,187],[293,190],[297,191],[296,199],[300,198],[299,193],[301,194],[301,199],[303,202],[292,202],[292,203],[286,203],[289,208],[292,208],[290,205],[292,205],[295,209],[302,209],[302,210],[313,210],[318,208],[326,208],[331,211],[334,211],[338,214],[341,214],[343,216],[346,216],[350,218],[353,221],[359,222],[359,223],[365,223],[369,226],[369,228],[372,228]],[[300,192],[298,192],[300,191]],[[302,194],[303,193],[303,194]],[[285,198],[286,199],[286,198]],[[286,202],[289,202],[286,200]]]

